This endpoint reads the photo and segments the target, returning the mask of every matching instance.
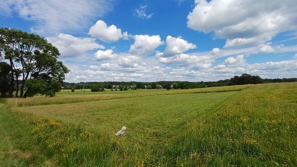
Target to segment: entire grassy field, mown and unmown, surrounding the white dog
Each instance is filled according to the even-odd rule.
[[[0,164],[297,166],[297,83],[85,93],[2,102]]]

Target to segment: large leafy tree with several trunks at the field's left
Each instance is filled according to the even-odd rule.
[[[57,60],[58,49],[44,38],[21,30],[0,28],[0,49],[10,63],[9,96],[13,93],[14,78],[19,77],[21,85],[20,88],[16,85],[16,96],[28,97],[37,93],[54,96],[60,89],[68,69]],[[27,91],[24,92],[25,86]]]

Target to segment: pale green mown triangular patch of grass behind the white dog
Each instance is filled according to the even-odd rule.
[[[187,123],[211,112],[237,91],[134,97],[63,105],[18,107],[39,117],[84,125],[106,135],[127,126],[130,144],[163,146]],[[139,133],[145,132],[145,133]]]

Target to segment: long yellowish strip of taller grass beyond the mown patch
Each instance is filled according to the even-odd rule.
[[[141,96],[154,96],[154,95],[166,95],[166,94],[187,94],[187,93],[208,93],[208,92],[224,92],[224,91],[239,91],[243,90],[250,85],[235,85],[224,87],[209,87],[209,88],[197,88],[197,89],[177,89],[177,90],[165,90],[165,89],[137,89],[128,91],[110,91],[105,92],[83,92],[83,91],[61,91],[56,94],[56,97],[44,97],[35,96],[31,98],[18,98],[17,106],[35,106],[35,105],[51,105],[51,104],[67,104],[78,102],[91,102],[99,100],[109,99],[121,99]],[[16,99],[7,99],[7,104],[15,106]]]

